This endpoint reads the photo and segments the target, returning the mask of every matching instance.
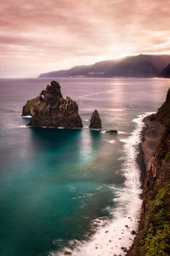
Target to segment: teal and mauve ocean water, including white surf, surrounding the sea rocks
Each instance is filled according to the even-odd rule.
[[[124,255],[141,206],[142,119],[161,106],[170,82],[58,81],[78,103],[83,129],[26,128],[22,107],[50,79],[0,79],[0,255]],[[102,131],[87,128],[94,109]]]

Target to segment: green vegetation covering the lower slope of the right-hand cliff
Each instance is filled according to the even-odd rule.
[[[170,255],[170,182],[156,191],[155,199],[150,199],[139,236],[142,255]]]

